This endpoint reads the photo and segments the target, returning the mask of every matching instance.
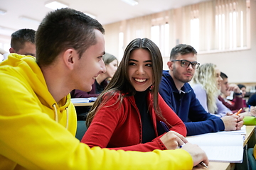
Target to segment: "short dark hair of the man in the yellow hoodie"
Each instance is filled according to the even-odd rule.
[[[90,16],[71,8],[48,13],[36,31],[36,61],[39,66],[52,64],[68,48],[78,51],[80,57],[95,45],[95,30],[105,33],[102,25]]]

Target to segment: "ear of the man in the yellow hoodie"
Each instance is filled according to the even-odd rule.
[[[78,53],[74,49],[68,49],[63,52],[63,61],[69,69],[74,69],[75,59]]]

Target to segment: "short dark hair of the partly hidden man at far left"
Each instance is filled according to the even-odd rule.
[[[11,34],[11,47],[15,51],[21,50],[25,42],[35,43],[36,30],[23,28]]]

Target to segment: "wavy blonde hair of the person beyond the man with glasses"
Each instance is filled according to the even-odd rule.
[[[215,68],[216,65],[212,63],[202,64],[196,69],[192,82],[193,84],[201,84],[206,90],[209,113],[215,113],[218,110],[216,98],[218,98],[220,91],[216,85]]]

